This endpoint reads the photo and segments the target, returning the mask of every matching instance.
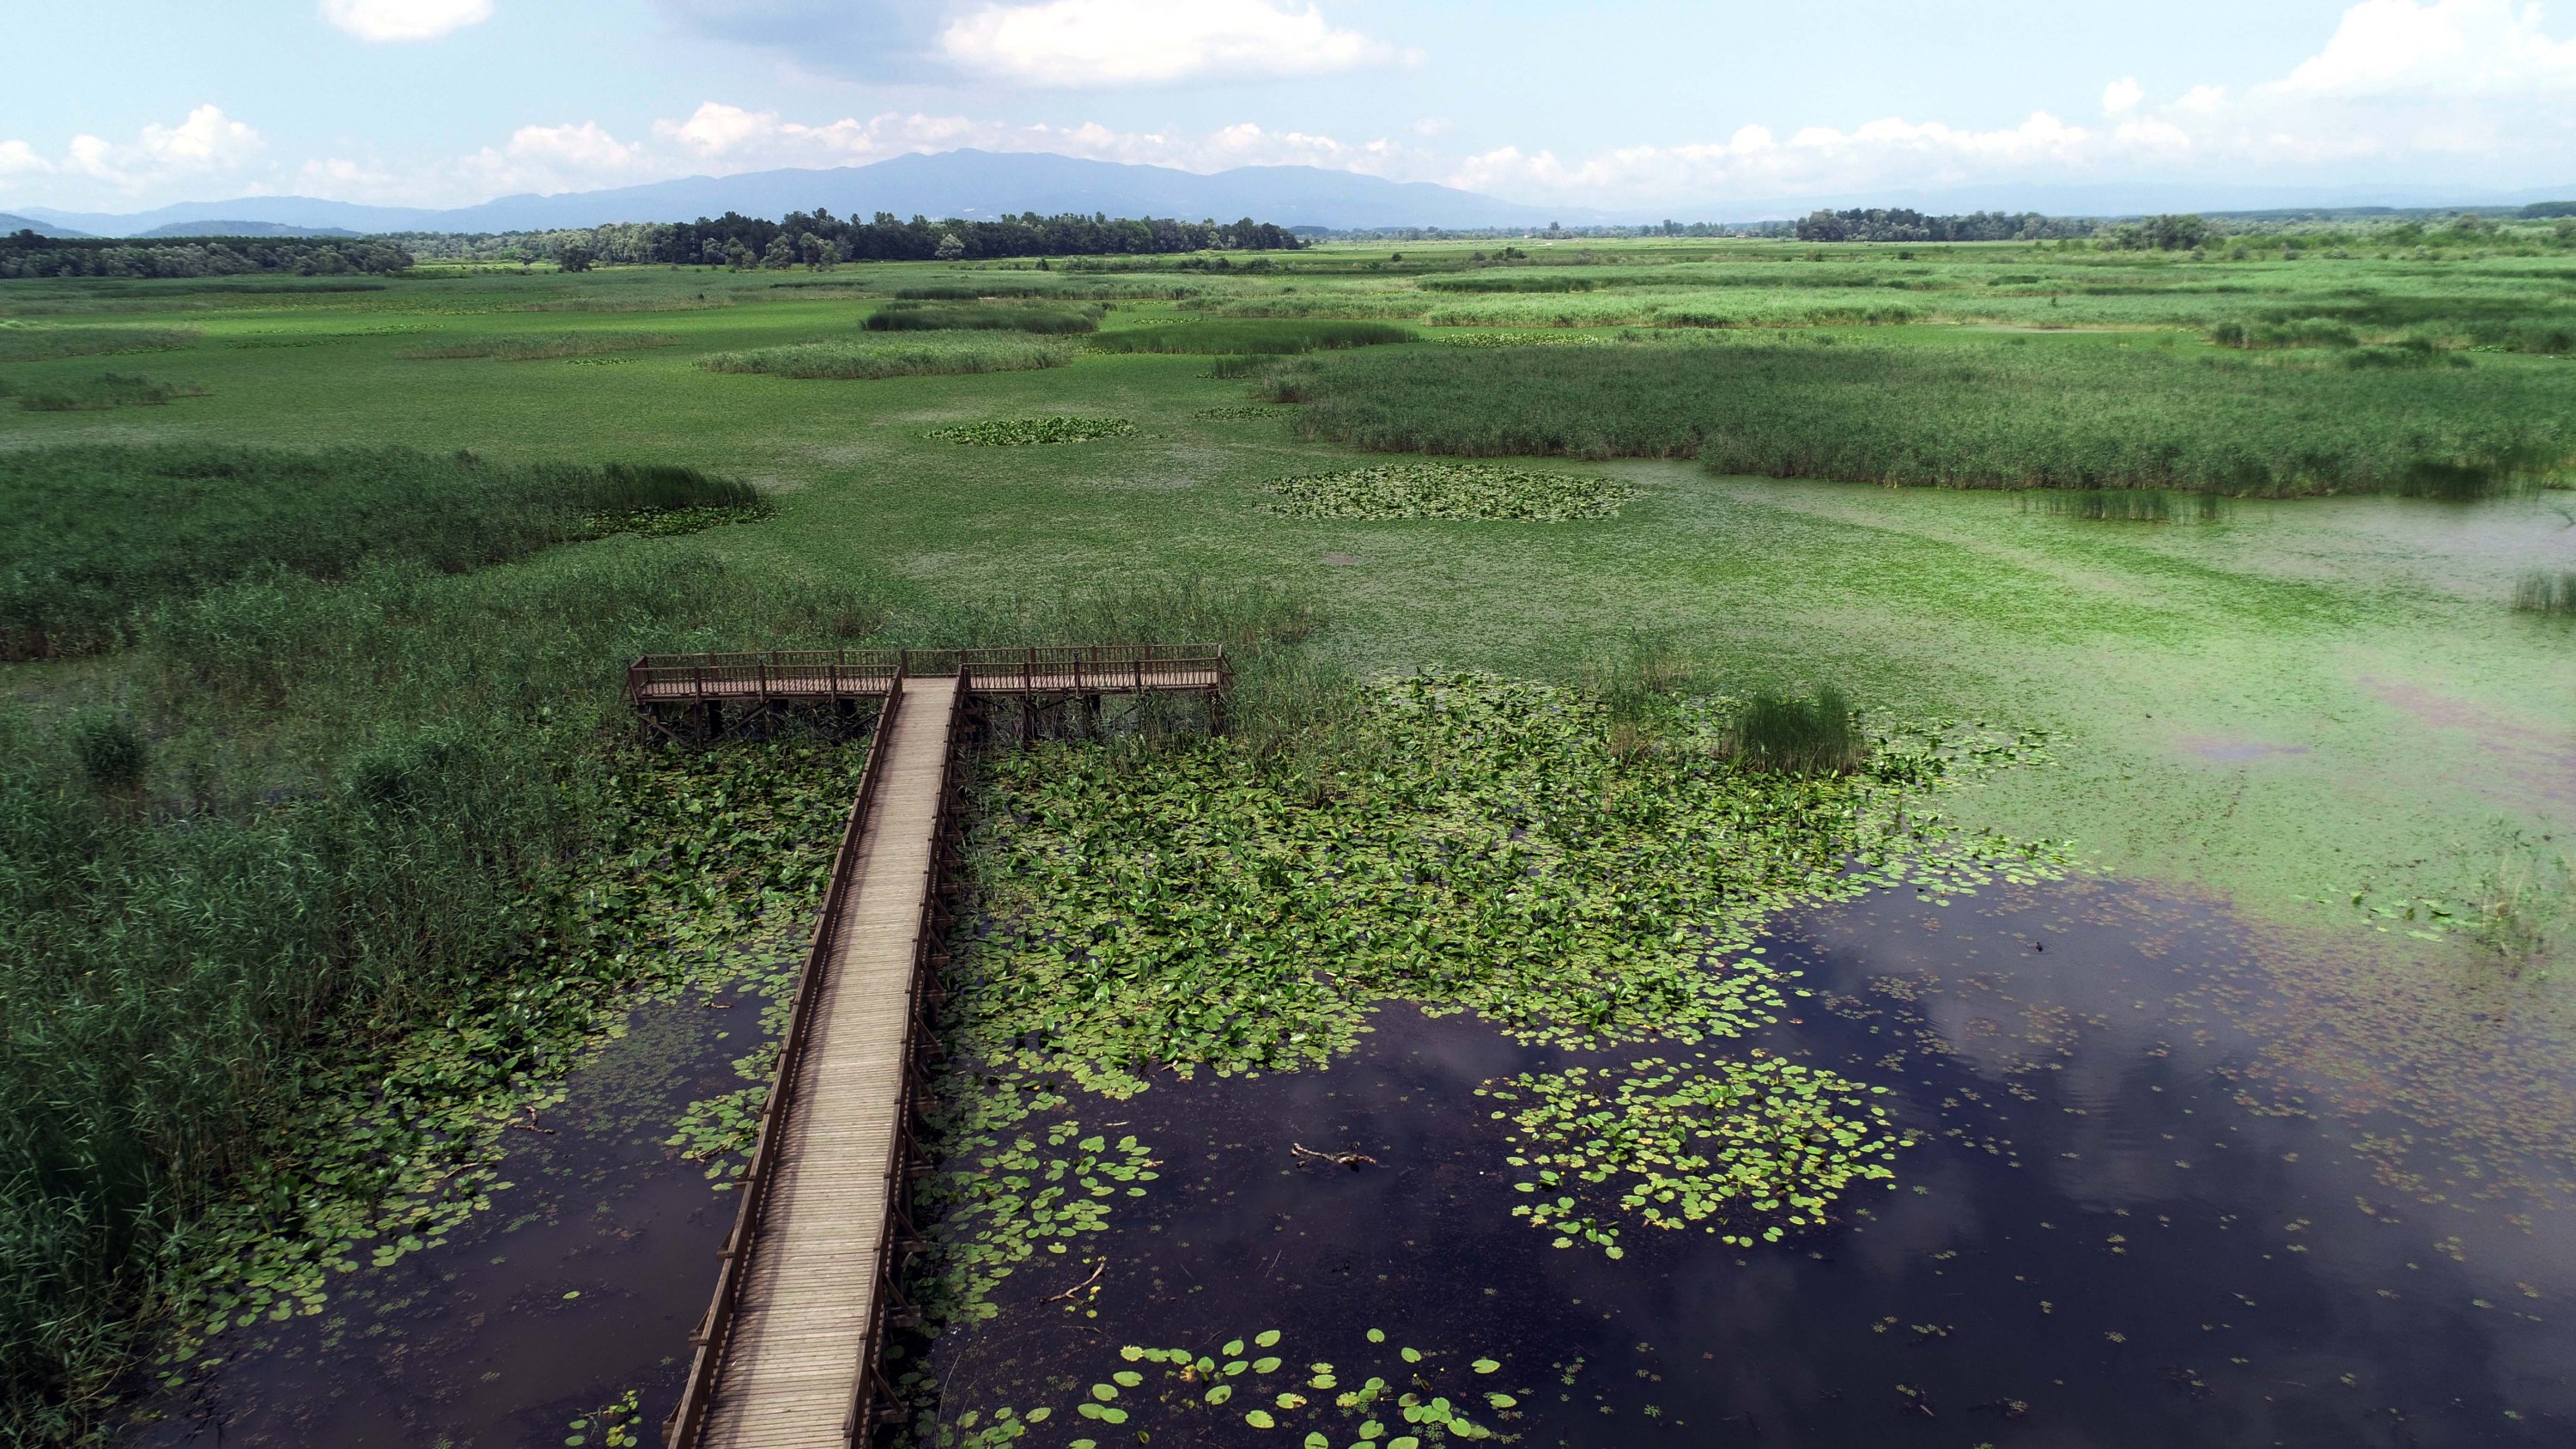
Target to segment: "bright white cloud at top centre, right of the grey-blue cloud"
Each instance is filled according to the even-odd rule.
[[[938,39],[961,70],[1023,85],[1159,85],[1324,75],[1394,59],[1314,5],[1267,0],[1041,0],[981,5]]]

